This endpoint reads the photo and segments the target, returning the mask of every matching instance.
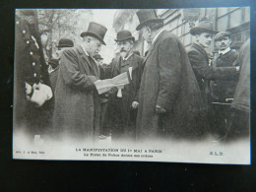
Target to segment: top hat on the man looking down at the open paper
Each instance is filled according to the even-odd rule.
[[[99,24],[96,24],[94,22],[91,22],[89,24],[88,30],[87,32],[82,32],[80,34],[81,37],[90,35],[90,36],[94,36],[96,37],[96,39],[98,39],[100,42],[102,42],[105,45],[105,42],[103,40],[105,32],[107,31],[107,29]]]

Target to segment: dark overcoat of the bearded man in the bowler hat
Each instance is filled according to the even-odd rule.
[[[107,110],[108,118],[112,127],[113,137],[115,134],[114,132],[117,131],[120,132],[120,134],[125,133],[126,136],[135,138],[137,109],[133,109],[131,106],[133,101],[139,101],[138,95],[144,58],[133,53],[127,61],[121,62],[121,59],[121,56],[117,56],[112,60],[110,64],[111,78],[120,75],[121,68],[126,71],[125,69],[128,70],[128,67],[132,67],[132,79],[130,79],[130,76],[128,75],[129,84],[125,85],[124,89],[122,89],[121,98],[116,96],[117,93],[110,95]],[[115,128],[119,130],[115,130]]]

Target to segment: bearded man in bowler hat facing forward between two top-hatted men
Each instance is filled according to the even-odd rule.
[[[119,54],[110,64],[111,78],[127,72],[130,84],[124,86],[120,96],[117,96],[117,89],[112,89],[110,92],[107,113],[112,128],[111,136],[113,139],[135,140],[143,57],[132,51],[135,38],[131,32],[125,30],[117,32],[115,41]]]

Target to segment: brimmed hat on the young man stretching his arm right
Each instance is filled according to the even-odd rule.
[[[209,21],[200,22],[196,27],[190,29],[189,32],[192,35],[200,34],[202,32],[216,33],[213,23]]]

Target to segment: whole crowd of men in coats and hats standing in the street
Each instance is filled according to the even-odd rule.
[[[18,10],[15,50],[15,128],[32,140],[50,135],[95,142],[157,138],[219,141],[248,137],[250,114],[249,39],[239,53],[230,48],[230,32],[216,32],[202,21],[188,51],[177,36],[163,30],[155,10],[137,12],[137,31],[151,44],[146,57],[135,51],[129,31],[116,34],[119,53],[110,64],[99,55],[107,29],[94,22],[81,44],[68,38],[48,74],[36,12]],[[206,49],[213,37],[218,52]],[[129,84],[98,95],[96,82],[128,74]],[[238,86],[237,86],[238,85]]]

